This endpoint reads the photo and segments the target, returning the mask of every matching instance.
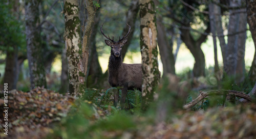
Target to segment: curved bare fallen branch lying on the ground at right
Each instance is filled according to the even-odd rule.
[[[233,94],[236,97],[244,98],[248,101],[251,101],[250,96],[246,95],[243,92],[234,91],[234,90],[211,90],[211,91],[207,91],[207,92],[200,91],[200,94],[198,95],[198,97],[196,99],[194,99],[193,101],[183,105],[183,108],[187,109],[187,108],[193,107],[207,96],[215,96],[215,95],[219,96],[219,95],[229,95],[229,94]]]

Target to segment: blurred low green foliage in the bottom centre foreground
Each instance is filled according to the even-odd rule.
[[[54,126],[54,132],[49,138],[108,138],[105,132],[135,130],[133,117],[125,112],[95,121],[95,106],[91,103],[76,101],[68,116]],[[121,134],[120,134],[121,135]],[[117,135],[120,136],[120,135]]]

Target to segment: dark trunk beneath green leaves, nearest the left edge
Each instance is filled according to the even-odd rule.
[[[17,46],[9,46],[9,48],[10,47],[13,49],[7,50],[4,83],[8,83],[8,90],[13,90],[16,89],[17,85],[18,48]]]

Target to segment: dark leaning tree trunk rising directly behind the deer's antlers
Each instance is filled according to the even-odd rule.
[[[132,27],[130,32],[131,35],[133,35],[135,30],[135,21],[136,21],[137,13],[139,11],[138,3],[139,3],[139,0],[133,0],[126,14],[126,23],[128,23]],[[122,35],[126,35],[128,30],[129,30],[129,26],[125,24]],[[128,50],[129,45],[131,44],[131,41],[132,41],[132,36],[130,37],[130,39],[127,40],[125,47],[122,48],[122,59],[124,59],[124,56]]]

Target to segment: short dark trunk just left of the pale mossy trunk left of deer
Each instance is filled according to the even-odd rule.
[[[66,49],[61,53],[61,75],[60,75],[60,89],[59,93],[67,93],[69,90],[69,78],[68,78],[68,61],[66,56]]]

